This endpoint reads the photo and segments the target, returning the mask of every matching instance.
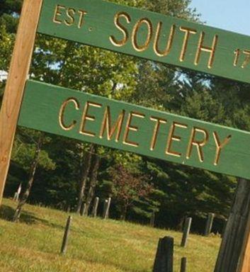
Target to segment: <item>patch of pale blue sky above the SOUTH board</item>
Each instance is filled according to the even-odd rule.
[[[208,26],[250,35],[250,0],[192,0]]]

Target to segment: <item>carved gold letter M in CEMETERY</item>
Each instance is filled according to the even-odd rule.
[[[106,111],[103,116],[103,123],[101,125],[101,131],[100,131],[100,138],[103,138],[104,132],[106,130],[107,133],[107,139],[110,141],[113,135],[115,134],[115,142],[119,142],[120,140],[120,133],[123,126],[123,120],[124,120],[125,111],[123,110],[120,115],[118,116],[117,120],[115,121],[115,124],[111,128],[111,117],[110,117],[110,107],[106,107]]]

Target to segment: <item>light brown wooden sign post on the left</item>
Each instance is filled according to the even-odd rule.
[[[16,43],[0,112],[0,205],[4,194],[11,150],[28,78],[42,0],[24,0]]]

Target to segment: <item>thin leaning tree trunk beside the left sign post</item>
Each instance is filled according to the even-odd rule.
[[[23,192],[23,195],[21,196],[21,199],[19,200],[18,206],[17,206],[15,214],[13,216],[13,222],[17,222],[19,220],[23,205],[25,205],[25,203],[28,200],[28,196],[30,196],[30,190],[31,190],[31,187],[33,185],[35,171],[36,171],[37,166],[38,166],[41,146],[42,146],[42,136],[40,136],[39,139],[38,139],[38,145],[37,145],[37,147],[35,149],[35,156],[34,156],[32,164],[30,166],[30,174],[29,174],[28,184],[27,184],[27,186],[25,188],[25,191]]]

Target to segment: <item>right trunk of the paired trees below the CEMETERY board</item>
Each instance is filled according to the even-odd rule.
[[[91,176],[89,180],[89,191],[88,191],[88,195],[86,196],[86,207],[84,209],[84,215],[89,214],[90,204],[91,204],[91,201],[93,200],[93,196],[94,196],[95,188],[97,184],[97,175],[98,175],[98,169],[100,166],[100,160],[101,159],[97,154],[93,156]]]

